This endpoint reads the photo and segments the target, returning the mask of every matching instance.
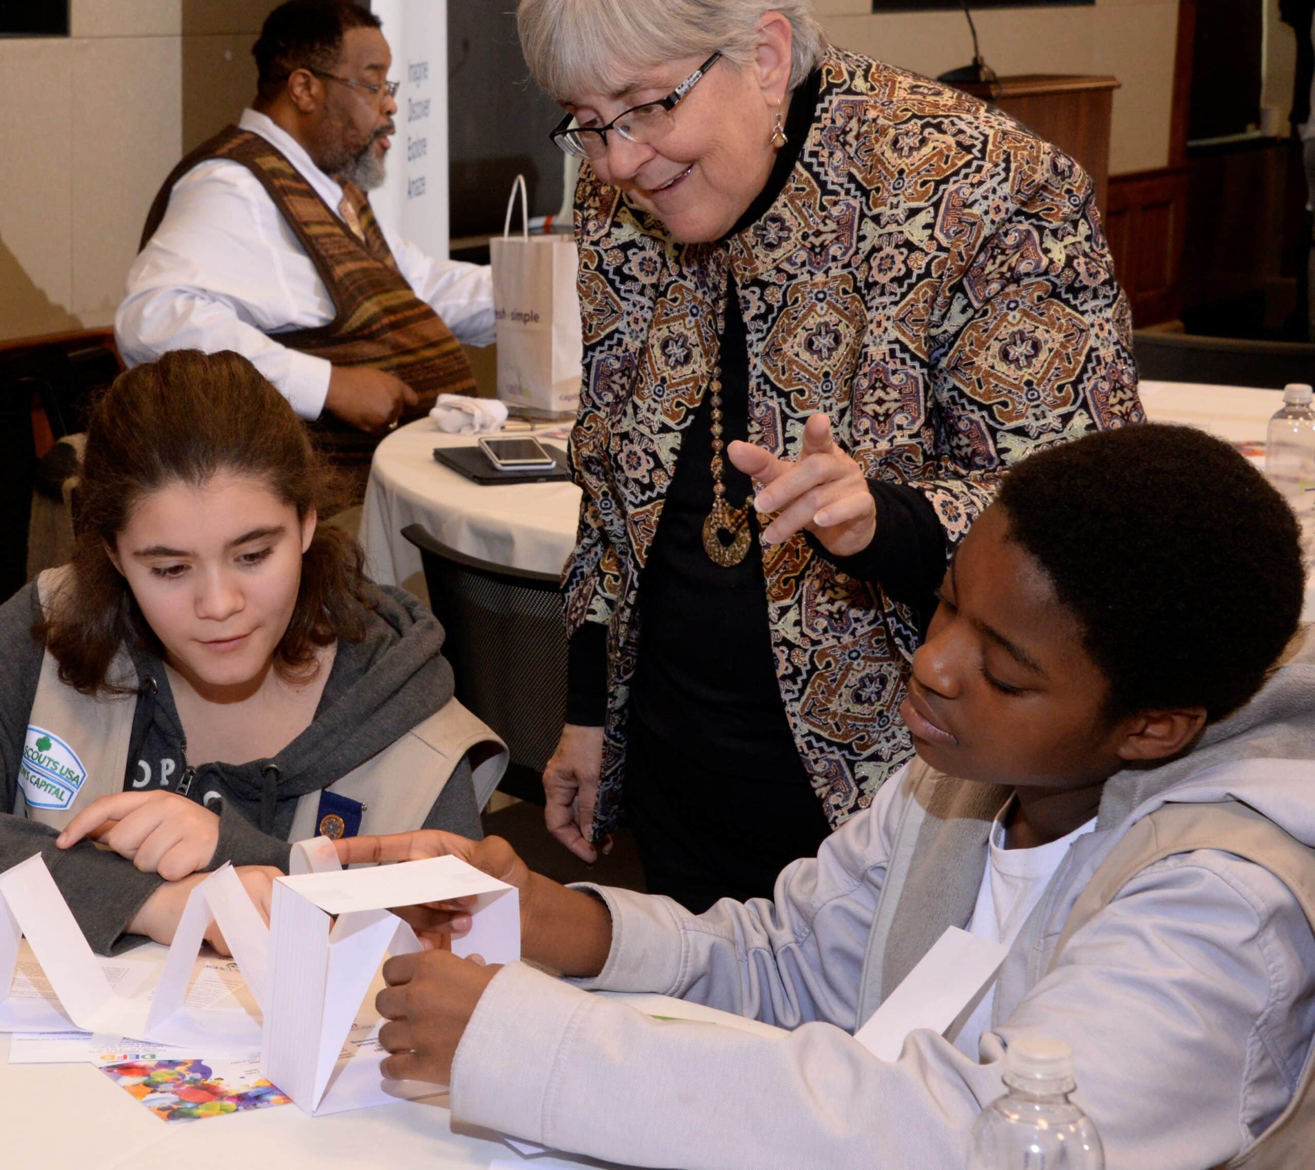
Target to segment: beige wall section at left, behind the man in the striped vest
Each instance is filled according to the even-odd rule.
[[[0,340],[113,321],[159,184],[255,87],[276,0],[72,0],[0,39]]]

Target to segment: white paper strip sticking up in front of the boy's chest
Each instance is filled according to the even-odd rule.
[[[853,1033],[873,1056],[899,1060],[910,1032],[944,1032],[995,978],[1009,948],[949,927]]]

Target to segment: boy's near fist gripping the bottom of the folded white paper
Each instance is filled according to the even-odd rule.
[[[479,956],[458,958],[446,950],[389,958],[388,986],[375,999],[388,1021],[379,1029],[379,1042],[392,1053],[380,1071],[391,1081],[450,1083],[456,1045],[500,970]]]

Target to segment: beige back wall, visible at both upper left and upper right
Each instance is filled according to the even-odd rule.
[[[0,340],[113,321],[160,181],[250,99],[250,46],[274,4],[72,0],[70,38],[0,39]],[[972,57],[959,13],[874,16],[871,7],[818,0],[844,47],[932,76]],[[1001,74],[1114,74],[1123,83],[1111,172],[1168,162],[1177,0],[976,18]]]

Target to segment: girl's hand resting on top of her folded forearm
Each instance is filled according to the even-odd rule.
[[[220,818],[178,793],[114,793],[74,816],[55,844],[68,849],[83,837],[109,845],[142,873],[176,882],[210,864]]]

